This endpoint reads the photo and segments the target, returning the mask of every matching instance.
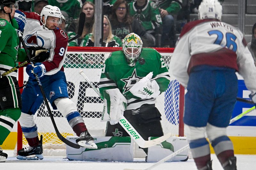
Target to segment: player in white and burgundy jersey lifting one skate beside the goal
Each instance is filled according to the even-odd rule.
[[[39,140],[37,126],[33,118],[43,102],[43,96],[33,72],[40,78],[45,95],[53,109],[58,109],[63,117],[67,118],[69,125],[79,136],[76,143],[86,148],[97,148],[76,105],[68,98],[67,81],[63,68],[68,36],[58,28],[58,25],[61,24],[60,9],[47,5],[43,8],[41,15],[34,12],[24,12],[24,14],[27,19],[23,34],[26,46],[46,48],[50,54],[49,58],[42,63],[35,63],[35,67],[28,65],[26,68],[29,79],[21,96],[22,110],[19,122],[29,147],[18,151],[17,158],[43,159],[42,137]]]

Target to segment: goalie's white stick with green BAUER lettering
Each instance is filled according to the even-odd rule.
[[[84,79],[90,84],[90,86],[93,88],[93,90],[100,96],[100,98],[102,100],[104,100],[103,96],[100,94],[99,90],[92,85],[92,82],[90,81],[89,78],[87,78],[84,74],[84,72],[82,70],[79,71],[79,74],[81,74]],[[162,137],[158,137],[156,139],[153,140],[149,140],[146,141],[144,140],[140,134],[136,131],[136,129],[134,129],[131,125],[131,123],[129,123],[129,121],[124,117],[121,116],[120,120],[118,121],[118,123],[124,128],[124,130],[132,137],[132,139],[141,147],[141,148],[148,148],[150,146],[154,146],[156,144],[160,144],[162,142],[164,142],[166,139],[171,137],[171,133],[165,134]]]

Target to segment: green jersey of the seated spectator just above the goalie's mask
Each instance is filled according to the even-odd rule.
[[[136,4],[136,1],[129,4],[130,15],[137,19],[146,31],[153,30],[156,26],[162,25],[160,11],[154,2],[147,0],[146,4],[142,7]]]

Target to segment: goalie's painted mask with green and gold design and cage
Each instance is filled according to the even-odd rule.
[[[130,33],[124,37],[123,51],[128,65],[135,66],[140,56],[142,44],[140,36],[135,33]]]

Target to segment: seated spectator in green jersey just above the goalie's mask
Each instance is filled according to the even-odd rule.
[[[145,28],[147,33],[155,36],[154,46],[159,46],[159,27],[162,26],[162,19],[156,4],[150,0],[137,0],[129,4],[130,15],[137,19]],[[156,42],[158,44],[156,44]]]

